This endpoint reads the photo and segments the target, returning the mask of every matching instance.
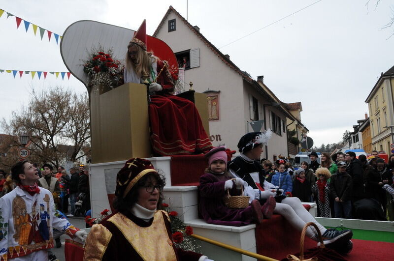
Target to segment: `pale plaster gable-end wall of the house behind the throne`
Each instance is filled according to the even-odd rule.
[[[168,20],[171,19],[176,19],[176,30],[168,32]],[[242,77],[218,58],[173,12],[156,37],[168,44],[174,53],[199,48],[200,66],[185,71],[185,82],[193,82],[197,92],[207,89],[221,91],[220,119],[209,121],[210,135],[215,137],[212,144],[226,144],[236,150],[239,138],[245,134]],[[220,135],[221,141],[216,141],[216,135]]]

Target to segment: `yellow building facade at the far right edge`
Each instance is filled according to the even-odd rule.
[[[365,103],[368,104],[372,149],[392,152],[394,144],[394,66],[382,73]]]

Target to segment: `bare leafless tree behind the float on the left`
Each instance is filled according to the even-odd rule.
[[[3,119],[1,125],[10,136],[30,136],[31,159],[37,162],[59,166],[63,160],[76,161],[79,152],[85,154],[81,148],[90,140],[88,98],[62,87],[33,91],[28,105],[13,112],[9,122]],[[72,145],[71,155],[59,145]]]

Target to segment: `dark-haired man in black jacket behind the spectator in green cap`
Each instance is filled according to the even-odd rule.
[[[345,159],[348,163],[346,172],[352,177],[353,181],[352,201],[356,202],[365,198],[364,179],[362,176],[361,163],[358,159],[356,159],[356,153],[353,151],[346,152]]]

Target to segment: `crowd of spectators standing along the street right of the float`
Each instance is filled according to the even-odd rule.
[[[377,151],[367,159],[353,151],[309,154],[310,163],[303,161],[298,170],[281,160],[263,159],[265,178],[302,202],[315,202],[319,217],[394,220],[394,154],[389,162]],[[288,194],[289,196],[289,194]]]

